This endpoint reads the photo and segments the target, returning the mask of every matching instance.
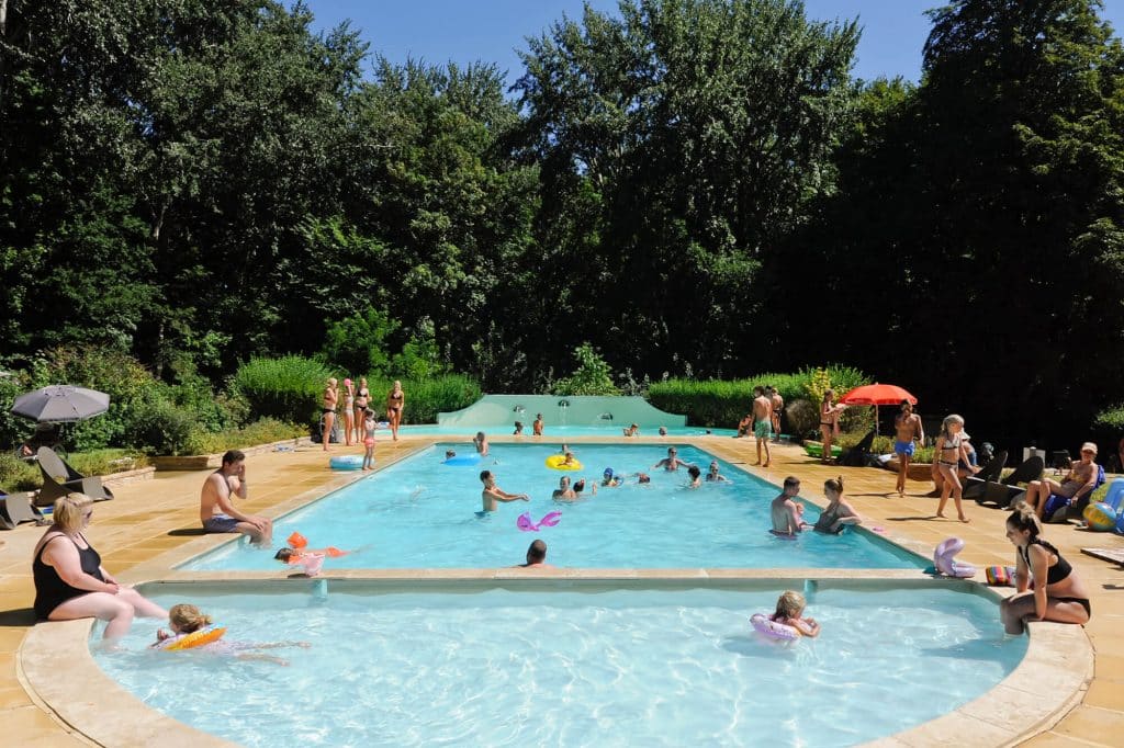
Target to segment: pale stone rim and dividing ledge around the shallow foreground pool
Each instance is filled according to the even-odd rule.
[[[812,569],[808,569],[813,572]],[[481,573],[497,575],[481,578]],[[424,575],[383,581],[372,578],[370,572],[355,573],[354,578],[342,580],[229,580],[225,582],[193,581],[149,582],[140,585],[146,594],[169,592],[179,587],[184,594],[210,593],[230,595],[291,594],[301,590],[310,595],[347,592],[352,594],[384,594],[393,592],[439,592],[471,594],[495,589],[513,591],[581,591],[596,593],[602,590],[776,590],[805,587],[812,583],[818,589],[870,590],[919,589],[934,584],[928,578],[892,578],[885,572],[870,572],[867,578],[827,578],[823,569],[810,576],[794,573],[796,569],[772,569],[769,578],[747,578],[744,572],[713,571],[707,577],[695,578],[592,578],[589,569],[582,571],[583,580],[535,578],[516,569],[475,569],[475,578],[450,575]],[[513,575],[522,574],[523,578]],[[876,578],[878,575],[880,578]],[[887,578],[891,576],[891,578]],[[506,578],[505,578],[506,577]],[[818,578],[817,578],[818,577]],[[502,581],[500,581],[502,580]],[[959,580],[943,584],[962,590],[966,594],[998,598],[995,591]],[[69,728],[99,745],[161,745],[161,746],[230,746],[233,744],[200,732],[170,717],[146,706],[140,700],[117,684],[98,667],[90,653],[89,637],[93,622],[89,619],[35,627],[19,650],[20,678],[34,697],[45,705],[56,719]],[[66,673],[66,677],[58,677]],[[984,696],[960,709],[925,722],[916,728],[889,736],[868,745],[877,746],[976,746],[1017,745],[1057,723],[1078,703],[1093,677],[1093,653],[1080,627],[1060,623],[1040,623],[1031,630],[1026,656],[1015,671]],[[1049,697],[1043,697],[1049,694]],[[1013,708],[1017,704],[1017,709]],[[970,737],[969,737],[970,736]]]

